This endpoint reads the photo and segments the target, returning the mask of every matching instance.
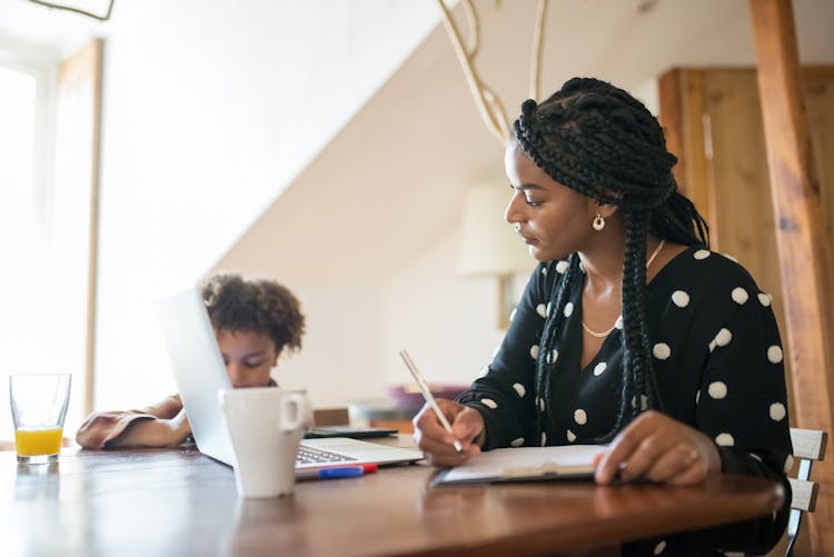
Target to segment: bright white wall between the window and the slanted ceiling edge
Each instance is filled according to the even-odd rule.
[[[173,390],[152,300],[210,269],[437,20],[429,0],[131,7],[105,52],[97,408]]]

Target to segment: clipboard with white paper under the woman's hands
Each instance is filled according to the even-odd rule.
[[[463,484],[590,479],[594,457],[605,445],[518,447],[493,449],[436,474],[433,487]]]

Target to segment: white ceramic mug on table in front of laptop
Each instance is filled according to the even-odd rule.
[[[312,416],[307,392],[251,387],[225,389],[219,397],[237,460],[238,495],[291,495],[298,444]]]

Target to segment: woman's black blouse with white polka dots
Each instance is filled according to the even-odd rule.
[[[548,305],[566,268],[566,261],[536,268],[486,374],[458,399],[484,416],[486,449],[593,442],[613,427],[623,370],[623,322],[617,320],[598,354],[582,367],[583,280],[566,292],[568,301],[559,315]],[[560,332],[557,347],[539,358],[547,319],[559,319]],[[737,262],[691,247],[648,284],[647,319],[664,411],[711,437],[724,471],[786,484],[791,440],[784,355],[771,296]],[[537,390],[534,377],[542,362],[547,371]],[[645,409],[647,402],[641,396],[631,404]],[[757,543],[770,544],[764,539],[768,536],[775,536],[775,543],[785,519],[786,513],[780,513],[767,517],[770,524],[757,521],[755,531],[763,538]],[[728,529],[722,531],[726,537]],[[711,539],[713,547],[705,547],[705,554],[759,547],[749,547],[748,533],[738,535],[748,546],[732,547],[729,535]],[[681,555],[683,547],[703,543],[689,537],[652,540],[643,549],[646,555]]]

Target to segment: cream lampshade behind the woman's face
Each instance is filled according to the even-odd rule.
[[[467,277],[532,271],[536,261],[504,220],[510,191],[506,183],[470,188],[464,202],[458,271]]]

